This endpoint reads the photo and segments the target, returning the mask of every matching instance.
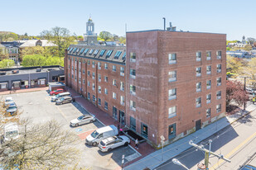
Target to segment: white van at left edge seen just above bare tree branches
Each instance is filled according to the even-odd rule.
[[[17,123],[9,123],[4,125],[3,141],[10,141],[19,137],[19,130]]]

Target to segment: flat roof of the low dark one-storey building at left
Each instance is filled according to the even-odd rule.
[[[41,72],[36,72],[37,68],[41,68]],[[19,70],[19,73],[12,73],[14,70]],[[29,67],[29,68],[5,68],[0,69],[0,72],[6,72],[6,75],[19,75],[19,74],[28,74],[28,73],[46,73],[47,71],[53,70],[64,70],[61,66],[45,66],[45,67]],[[4,75],[1,75],[4,76]]]

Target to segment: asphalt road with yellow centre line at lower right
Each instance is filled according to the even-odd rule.
[[[238,120],[233,125],[229,125],[224,130],[210,136],[212,139],[211,151],[221,153],[225,158],[229,158],[231,163],[210,155],[210,170],[236,170],[245,163],[249,156],[256,152],[256,111]],[[209,139],[205,139],[200,144],[209,149],[207,144]],[[176,158],[191,170],[197,169],[197,163],[204,163],[205,153],[196,148],[191,148],[176,156]],[[256,157],[248,161],[256,166]],[[157,170],[184,170],[179,165],[170,161],[163,163]]]

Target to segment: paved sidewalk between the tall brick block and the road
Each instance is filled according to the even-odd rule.
[[[182,139],[177,140],[176,142],[167,145],[163,149],[163,161],[162,161],[162,149],[159,149],[153,153],[150,153],[146,157],[140,159],[138,162],[128,165],[125,170],[142,170],[144,168],[154,169],[157,168],[162,163],[167,162],[176,155],[190,149],[191,145],[189,144],[190,140],[193,140],[195,144],[200,143],[200,141],[207,139],[211,135],[214,135],[218,131],[224,129],[228,125],[234,123],[234,121],[239,120],[241,117],[249,114],[249,112],[254,111],[256,105],[253,105],[251,102],[248,102],[246,111],[240,109],[234,115],[225,116],[220,120],[215,121],[214,123],[207,125],[205,128],[197,130],[195,133],[188,135]]]

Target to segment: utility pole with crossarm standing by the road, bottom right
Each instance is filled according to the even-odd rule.
[[[211,142],[212,141],[210,140],[209,143],[211,144]],[[208,149],[204,149],[202,146],[194,144],[192,140],[189,142],[189,144],[191,144],[191,146],[194,146],[196,149],[200,149],[201,151],[205,152],[205,168],[204,169],[209,169],[208,167],[209,167],[210,154],[213,154],[213,155],[215,155],[215,157],[221,158],[229,163],[231,162],[228,158],[225,158],[222,154],[217,154],[217,153],[211,152]],[[200,169],[200,168],[198,168],[198,169]]]

